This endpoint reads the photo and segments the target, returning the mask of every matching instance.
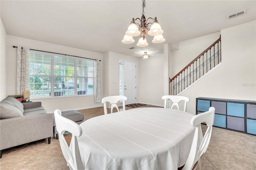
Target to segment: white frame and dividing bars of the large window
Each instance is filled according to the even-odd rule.
[[[39,55],[50,55],[50,75],[36,75],[36,74],[30,74],[29,76],[33,76],[33,77],[50,77],[50,94],[49,96],[39,96],[39,97],[34,97],[33,95],[31,95],[31,93],[34,92],[30,90],[30,99],[49,99],[49,98],[62,98],[62,97],[81,97],[81,96],[90,96],[90,95],[94,95],[94,80],[95,80],[95,75],[94,75],[94,69],[95,69],[95,61],[94,59],[87,59],[87,58],[83,58],[83,57],[75,57],[72,55],[63,55],[63,54],[57,54],[57,53],[51,53],[51,52],[45,52],[45,51],[37,51],[37,50],[31,50],[30,49],[30,53],[35,53],[35,54],[39,54]],[[55,63],[54,63],[54,56],[58,56],[58,57],[66,57],[66,58],[72,58],[74,59],[74,76],[69,76],[69,75],[54,75],[54,67],[55,67]],[[78,76],[77,71],[78,71],[78,60],[84,60],[84,61],[93,61],[92,63],[92,77],[90,76]],[[29,61],[30,63],[30,61]],[[64,77],[64,78],[73,78],[74,79],[74,95],[62,95],[62,91],[69,91],[69,86],[67,86],[67,89],[60,89],[61,91],[61,95],[60,96],[55,96],[54,93],[57,93],[56,91],[54,91],[54,78],[56,77]],[[82,92],[82,94],[78,95],[78,88],[77,88],[77,84],[78,84],[78,78],[84,78],[84,79],[92,79],[92,93],[89,93],[89,89],[88,91],[83,94],[84,92]],[[44,82],[42,82],[43,84]],[[88,84],[89,86],[89,84]],[[66,86],[65,86],[66,87]],[[71,86],[72,87],[72,86]],[[43,89],[42,89],[43,91]],[[70,90],[71,91],[71,90]],[[91,91],[91,90],[90,90]],[[42,92],[43,93],[43,92]]]

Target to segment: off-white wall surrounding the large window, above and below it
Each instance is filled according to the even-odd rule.
[[[2,34],[1,34],[2,38]],[[92,51],[86,51],[82,49],[76,49],[72,47],[65,47],[62,45],[56,45],[52,43],[39,42],[36,40],[30,40],[26,38],[20,38],[16,36],[6,36],[6,77],[7,77],[7,95],[16,94],[16,55],[17,48],[12,46],[25,46],[30,47],[30,49],[37,49],[42,51],[49,51],[55,53],[63,53],[68,55],[76,55],[80,57],[100,59],[102,60],[102,53],[96,53]],[[2,47],[1,47],[2,48]],[[8,57],[7,57],[8,56]],[[1,55],[2,58],[2,55]],[[102,62],[100,62],[101,67],[101,79],[102,79]],[[1,71],[2,73],[2,71]],[[2,81],[2,77],[1,77]],[[38,99],[33,101],[41,101],[42,106],[47,112],[53,112],[55,109],[60,109],[62,111],[71,109],[85,109],[91,107],[102,106],[102,103],[94,103],[94,96],[82,96],[82,97],[63,97],[55,99]]]

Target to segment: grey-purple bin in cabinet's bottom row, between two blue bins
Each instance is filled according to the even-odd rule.
[[[227,120],[227,128],[245,132],[245,130],[244,130],[245,119],[244,118],[227,116],[227,119],[228,119]]]

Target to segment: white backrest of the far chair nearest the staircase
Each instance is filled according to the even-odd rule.
[[[179,103],[180,101],[184,101],[184,109],[183,109],[184,112],[185,112],[186,109],[187,109],[187,102],[189,102],[188,97],[185,97],[185,96],[165,95],[165,96],[162,97],[162,99],[164,100],[164,108],[168,108],[168,106],[169,106],[168,103],[169,103],[170,101],[172,101],[173,104],[172,104],[171,109],[172,109],[174,106],[176,106],[178,110],[180,110],[178,103]]]

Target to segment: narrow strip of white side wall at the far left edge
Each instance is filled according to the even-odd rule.
[[[7,96],[7,83],[6,83],[6,30],[1,19],[0,26],[0,101]]]

